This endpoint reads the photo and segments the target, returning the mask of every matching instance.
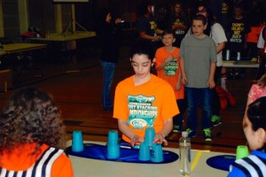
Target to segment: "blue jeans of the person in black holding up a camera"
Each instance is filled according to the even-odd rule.
[[[112,107],[113,101],[111,98],[111,85],[113,83],[113,74],[115,69],[115,63],[100,61],[103,67],[103,88],[102,88],[102,103],[104,107]]]

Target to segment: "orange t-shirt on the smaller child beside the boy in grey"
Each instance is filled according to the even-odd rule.
[[[155,54],[155,65],[159,67],[168,56],[173,55],[174,59],[168,62],[167,65],[161,70],[157,70],[157,75],[164,81],[167,81],[175,91],[176,100],[184,99],[184,86],[181,84],[181,89],[176,90],[176,84],[181,74],[180,60],[179,60],[179,48],[175,48],[172,52],[161,47]]]

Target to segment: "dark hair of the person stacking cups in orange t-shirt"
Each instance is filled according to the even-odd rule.
[[[146,55],[149,59],[153,61],[153,47],[149,42],[137,41],[131,48],[130,58],[133,58],[134,55]]]

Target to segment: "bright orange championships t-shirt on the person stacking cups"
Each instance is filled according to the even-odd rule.
[[[174,90],[155,75],[139,86],[135,86],[131,76],[115,89],[113,118],[126,120],[131,130],[142,138],[148,125],[152,125],[156,133],[160,132],[164,120],[178,113]],[[130,142],[126,135],[122,135],[122,139]]]

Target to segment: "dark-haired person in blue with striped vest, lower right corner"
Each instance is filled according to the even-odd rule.
[[[266,96],[248,105],[243,119],[243,129],[249,148],[246,158],[236,160],[230,166],[228,177],[266,176]]]

